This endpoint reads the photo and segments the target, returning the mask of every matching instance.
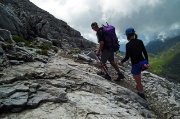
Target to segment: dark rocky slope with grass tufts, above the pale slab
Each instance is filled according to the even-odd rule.
[[[89,50],[95,43],[29,0],[0,3],[0,70],[24,62],[47,62],[59,49]],[[40,54],[40,56],[39,56]],[[46,55],[46,56],[41,56]]]

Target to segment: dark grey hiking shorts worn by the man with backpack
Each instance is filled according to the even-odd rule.
[[[107,61],[113,62],[114,61],[114,52],[111,52],[109,50],[104,50],[101,53],[101,61],[102,63],[106,63]]]

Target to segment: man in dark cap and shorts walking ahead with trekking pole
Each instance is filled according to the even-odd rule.
[[[96,31],[96,36],[97,36],[98,43],[99,43],[99,48],[95,52],[96,56],[99,56],[99,55],[101,56],[101,62],[104,64],[106,69],[107,69],[107,66],[105,65],[105,63],[107,62],[107,60],[110,62],[110,64],[115,68],[115,70],[117,71],[117,74],[118,74],[118,77],[117,77],[117,79],[115,79],[115,81],[120,81],[121,79],[124,78],[124,76],[121,73],[121,71],[119,70],[118,65],[114,61],[114,52],[110,51],[107,48],[107,43],[105,41],[105,36],[104,36],[104,33],[103,33],[103,27],[99,27],[96,22],[93,22],[91,24],[91,28],[94,31]],[[111,80],[111,77],[107,72],[103,77],[105,79]]]

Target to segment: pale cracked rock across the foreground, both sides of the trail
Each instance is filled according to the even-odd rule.
[[[90,53],[87,53],[90,54]],[[85,58],[82,58],[83,55]],[[180,88],[149,72],[143,73],[147,101],[127,89],[135,82],[126,68],[126,79],[110,82],[96,75],[95,59],[82,63],[56,54],[47,63],[15,65],[1,72],[1,118],[55,119],[178,119]],[[90,58],[90,57],[89,57]],[[122,87],[123,83],[129,83]],[[134,89],[135,91],[135,89]],[[24,111],[23,111],[24,110]],[[6,113],[16,112],[16,113]]]

